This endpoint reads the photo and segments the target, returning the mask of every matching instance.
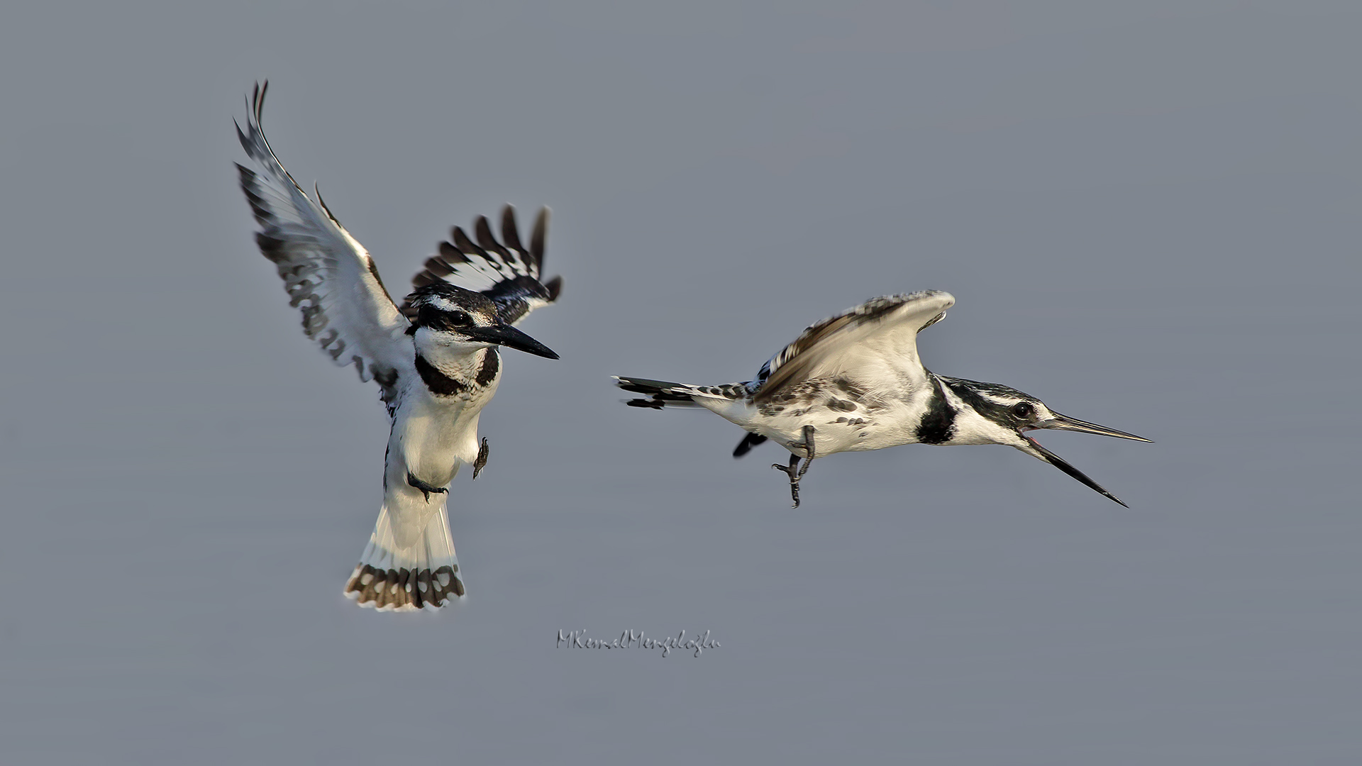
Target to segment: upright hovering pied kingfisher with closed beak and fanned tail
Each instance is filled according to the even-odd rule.
[[[252,119],[237,136],[259,172],[237,165],[241,189],[260,224],[256,244],[279,267],[302,331],[339,365],[375,380],[392,418],[383,472],[383,507],[369,545],[345,586],[361,607],[380,611],[439,608],[463,596],[449,536],[447,485],[459,466],[473,477],[488,462],[478,443],[478,413],[501,380],[497,346],[558,358],[513,326],[557,300],[563,279],[539,282],[549,211],[520,244],[515,210],[501,214],[501,241],[485,217],[477,243],[458,226],[451,243],[413,278],[415,290],[396,307],[373,259],[321,202],[294,183],[260,131],[268,83],[256,85]],[[445,277],[490,282],[473,292]]]

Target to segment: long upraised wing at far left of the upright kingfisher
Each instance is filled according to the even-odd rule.
[[[241,191],[260,224],[256,244],[279,267],[290,304],[302,311],[302,331],[336,364],[353,364],[361,380],[377,380],[390,408],[396,380],[411,369],[409,322],[392,304],[373,259],[331,215],[321,195],[308,198],[283,169],[260,131],[268,82],[256,85],[241,146],[256,170],[237,165]]]

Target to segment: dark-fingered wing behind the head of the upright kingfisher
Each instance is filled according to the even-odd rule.
[[[501,210],[501,241],[492,234],[486,215],[473,225],[477,241],[459,226],[451,230],[452,243],[440,243],[440,254],[425,262],[425,269],[411,278],[411,285],[424,288],[432,282],[481,290],[497,304],[497,318],[507,324],[519,324],[531,311],[558,300],[563,277],[542,281],[543,243],[549,233],[549,209],[539,210],[530,234],[530,248],[520,244],[515,222],[515,207]],[[402,304],[409,318],[410,305]]]

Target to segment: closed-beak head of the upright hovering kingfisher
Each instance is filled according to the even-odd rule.
[[[432,282],[407,296],[417,350],[471,353],[489,346],[507,346],[535,356],[558,358],[548,346],[497,319],[497,307],[482,293]],[[429,356],[424,353],[422,356]]]

